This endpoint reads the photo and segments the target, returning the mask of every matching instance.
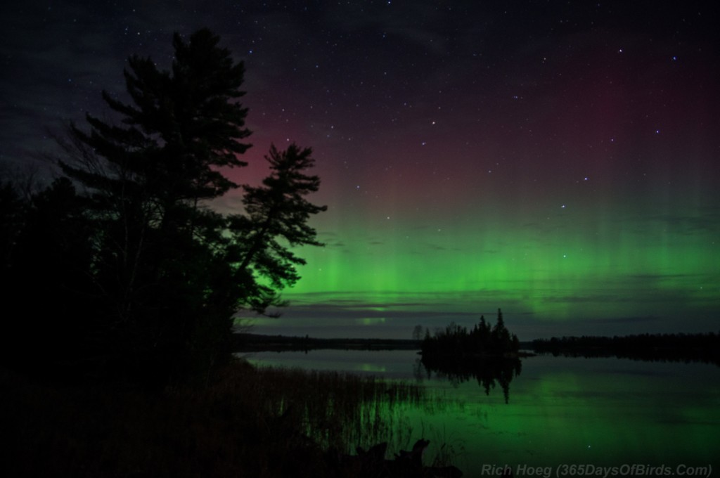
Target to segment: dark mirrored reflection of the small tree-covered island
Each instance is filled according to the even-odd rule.
[[[416,365],[415,377],[422,377],[421,369],[425,369],[428,379],[432,374],[438,379],[446,379],[454,386],[477,380],[477,384],[490,394],[495,384],[503,389],[505,403],[510,401],[510,382],[520,375],[523,364],[519,358],[476,357],[472,360],[455,356],[431,357],[423,356]]]

